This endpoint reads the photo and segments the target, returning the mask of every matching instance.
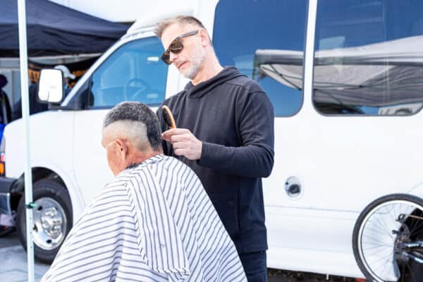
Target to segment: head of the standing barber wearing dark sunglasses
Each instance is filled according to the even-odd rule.
[[[154,32],[165,49],[164,61],[173,63],[186,78],[195,79],[207,61],[216,57],[209,34],[197,18],[168,18]]]

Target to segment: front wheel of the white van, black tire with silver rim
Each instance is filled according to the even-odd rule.
[[[50,264],[73,224],[71,197],[55,178],[44,178],[32,184],[34,255],[39,262]],[[20,199],[16,216],[20,243],[27,249],[25,195]]]

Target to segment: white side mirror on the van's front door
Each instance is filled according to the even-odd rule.
[[[39,75],[37,99],[41,103],[59,103],[63,99],[63,73],[46,68]]]

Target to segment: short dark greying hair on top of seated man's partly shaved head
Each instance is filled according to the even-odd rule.
[[[149,145],[155,151],[161,149],[161,130],[159,119],[146,104],[140,102],[121,102],[114,106],[104,117],[103,129],[116,121],[132,121],[145,125]],[[140,137],[143,135],[140,132]]]

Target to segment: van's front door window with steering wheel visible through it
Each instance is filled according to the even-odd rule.
[[[168,66],[161,63],[157,37],[138,39],[114,51],[92,75],[90,106],[112,107],[123,101],[161,104]]]

